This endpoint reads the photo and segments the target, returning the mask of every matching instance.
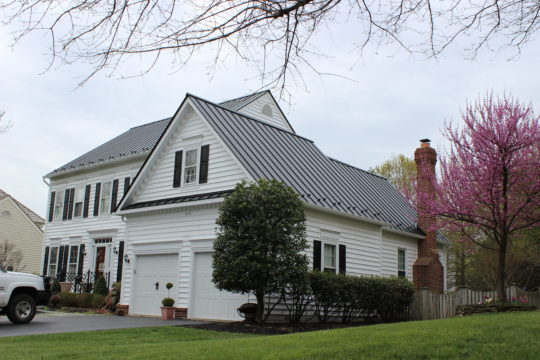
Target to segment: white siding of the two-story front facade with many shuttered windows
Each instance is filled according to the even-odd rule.
[[[66,188],[81,188],[84,191],[86,185],[91,185],[88,217],[73,218],[72,220],[57,220],[47,222],[44,227],[44,247],[60,245],[80,245],[85,244],[86,256],[84,257],[84,271],[93,269],[94,261],[94,239],[97,237],[112,237],[112,247],[118,248],[120,241],[125,241],[125,223],[121,217],[116,214],[100,214],[94,216],[94,197],[96,183],[107,182],[118,179],[118,197],[117,203],[120,203],[124,195],[124,179],[130,177],[131,181],[135,177],[142,162],[132,162],[115,167],[108,167],[101,170],[95,170],[88,173],[82,173],[71,177],[65,177],[60,180],[52,180],[47,201],[50,202],[50,192],[64,192]],[[112,190],[111,190],[112,192]],[[49,209],[49,204],[47,204]],[[111,284],[116,281],[116,270],[118,268],[118,256],[110,255],[109,270],[111,272]],[[43,256],[42,256],[43,257]],[[41,260],[43,264],[43,259]]]

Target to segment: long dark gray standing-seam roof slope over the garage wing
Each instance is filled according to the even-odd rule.
[[[415,210],[387,179],[331,159],[292,132],[188,96],[253,178],[282,181],[313,205],[422,234]]]

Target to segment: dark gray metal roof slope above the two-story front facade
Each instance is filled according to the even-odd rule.
[[[149,153],[154,148],[161,134],[171,121],[171,118],[163,119],[149,124],[136,126],[129,129],[105,144],[90,150],[75,160],[60,166],[58,169],[45,175],[52,177],[60,173],[79,169],[85,166],[105,163],[112,160],[125,159],[131,156]]]

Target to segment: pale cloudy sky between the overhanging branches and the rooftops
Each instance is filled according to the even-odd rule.
[[[13,127],[0,135],[0,188],[42,216],[49,171],[130,127],[171,116],[186,92],[218,102],[261,86],[256,72],[234,58],[209,74],[201,52],[179,71],[165,58],[142,78],[100,74],[77,88],[88,66],[44,72],[46,38],[34,35],[12,48],[8,31],[0,27],[0,110]],[[352,165],[367,169],[393,154],[412,155],[425,137],[441,145],[443,123],[459,122],[466,100],[486,91],[540,106],[540,39],[512,60],[513,53],[484,52],[470,61],[458,43],[435,61],[392,48],[369,48],[359,58],[351,51],[353,33],[344,27],[318,34],[315,45],[328,57],[312,62],[349,80],[306,72],[302,85],[289,88],[292,99],[281,103],[298,134]],[[132,59],[119,74],[140,66]]]

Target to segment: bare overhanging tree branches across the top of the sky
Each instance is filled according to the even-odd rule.
[[[173,52],[182,66],[200,48],[214,64],[232,52],[258,66],[264,85],[283,86],[312,66],[316,32],[354,23],[353,46],[394,43],[433,57],[465,38],[470,55],[486,47],[521,47],[540,27],[538,0],[0,0],[16,39],[50,33],[55,61],[88,61],[113,71],[127,56]],[[324,53],[324,50],[322,51]],[[83,83],[84,83],[83,81]]]

